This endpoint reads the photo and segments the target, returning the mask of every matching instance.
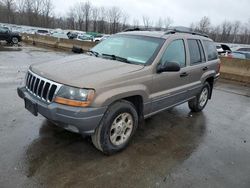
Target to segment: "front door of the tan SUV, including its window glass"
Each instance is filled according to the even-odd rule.
[[[185,41],[173,38],[163,53],[159,63],[176,62],[179,72],[155,73],[153,76],[152,113],[164,110],[187,100],[189,72],[187,70]]]

